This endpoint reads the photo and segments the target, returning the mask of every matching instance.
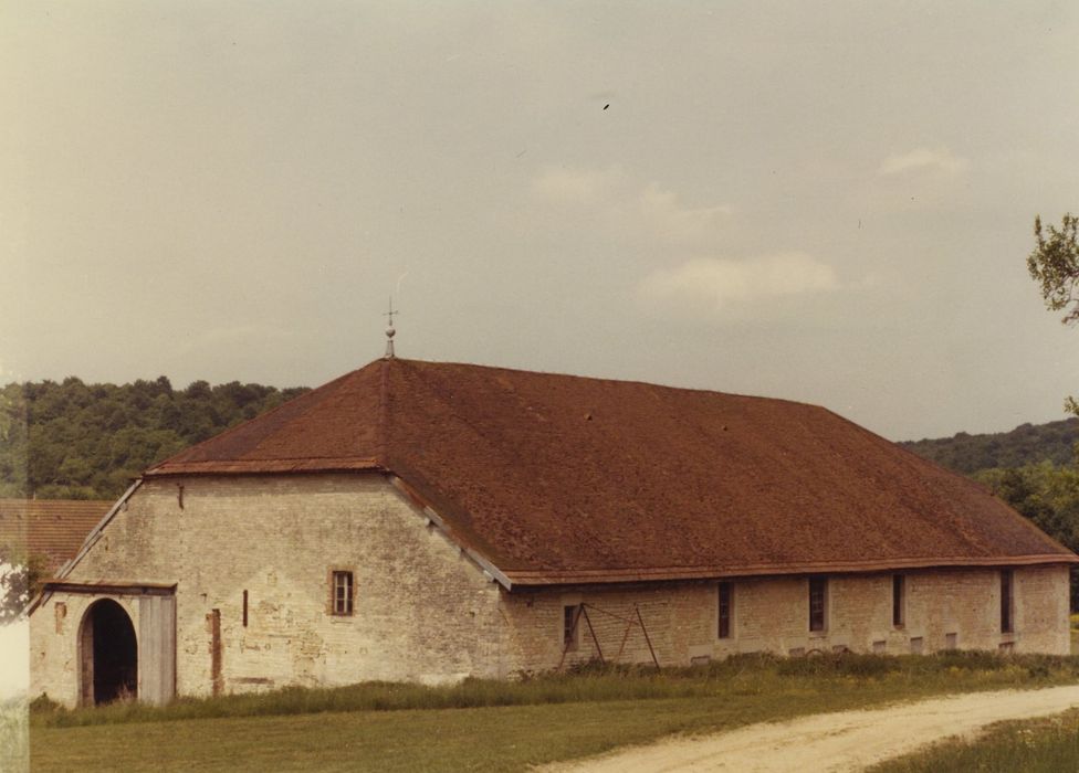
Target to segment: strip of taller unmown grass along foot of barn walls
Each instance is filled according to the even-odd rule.
[[[968,679],[970,684],[964,682]],[[117,702],[84,709],[35,701],[33,722],[74,727],[188,719],[308,714],[328,711],[417,711],[493,706],[668,700],[723,695],[756,695],[774,689],[826,690],[837,682],[894,681],[941,690],[1079,679],[1079,657],[949,650],[934,655],[826,654],[785,658],[735,655],[708,665],[657,670],[651,665],[591,664],[570,671],[548,671],[514,681],[469,678],[453,685],[370,681],[347,687],[285,687],[218,698],[180,698],[165,707]]]

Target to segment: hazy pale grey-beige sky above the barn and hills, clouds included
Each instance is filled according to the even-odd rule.
[[[400,357],[1064,417],[1073,2],[0,2],[0,383]]]

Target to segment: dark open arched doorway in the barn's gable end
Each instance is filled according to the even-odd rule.
[[[123,606],[112,599],[91,604],[83,615],[78,648],[83,706],[137,697],[138,643]]]

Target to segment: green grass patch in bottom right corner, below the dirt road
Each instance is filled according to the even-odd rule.
[[[970,741],[945,741],[871,769],[872,773],[1060,773],[1079,771],[1079,710],[1001,722]]]

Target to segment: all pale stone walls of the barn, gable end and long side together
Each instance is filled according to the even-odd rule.
[[[331,614],[334,570],[354,573],[353,615]],[[654,652],[661,665],[681,666],[762,650],[1069,649],[1065,566],[1014,570],[1013,634],[1001,633],[999,571],[905,578],[904,625],[895,627],[891,574],[832,575],[819,634],[808,629],[807,578],[734,580],[731,636],[721,639],[715,582],[510,593],[383,476],[311,475],[151,479],[67,579],[175,583],[176,687],[186,696],[214,690],[214,611],[224,692],[506,677],[599,650],[631,663]],[[78,626],[97,597],[54,593],[33,613],[35,695],[77,701]],[[137,600],[118,601],[138,632]],[[579,604],[575,648],[564,656],[565,607]]]

